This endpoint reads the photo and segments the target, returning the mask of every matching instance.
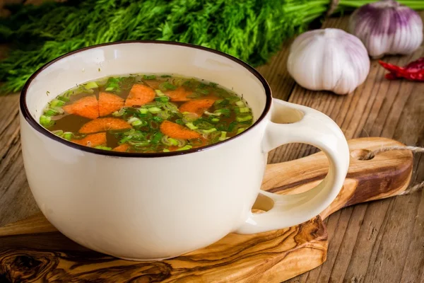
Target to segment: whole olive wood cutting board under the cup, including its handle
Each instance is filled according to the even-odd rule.
[[[403,146],[373,137],[351,139],[351,164],[341,192],[322,214],[288,229],[237,235],[177,258],[152,262],[120,260],[69,240],[42,214],[0,227],[0,282],[282,282],[326,260],[323,219],[360,202],[401,195],[413,169],[411,151],[369,151]],[[262,189],[299,193],[317,185],[328,171],[322,152],[268,165]],[[255,206],[254,206],[255,207]],[[260,207],[258,204],[256,207]],[[260,213],[258,210],[254,210]]]

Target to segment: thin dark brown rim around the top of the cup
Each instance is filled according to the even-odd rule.
[[[225,141],[218,141],[216,144],[210,144],[208,146],[201,146],[201,147],[196,148],[196,149],[188,149],[188,150],[184,150],[184,151],[171,151],[171,152],[154,152],[154,153],[105,151],[105,150],[102,150],[102,149],[95,149],[95,148],[92,148],[92,147],[83,146],[83,145],[80,145],[80,144],[75,144],[71,141],[68,141],[67,139],[62,139],[61,137],[57,136],[56,134],[53,134],[52,132],[50,132],[48,129],[45,129],[45,127],[42,127],[42,125],[40,125],[40,123],[37,122],[32,115],[30,115],[30,111],[28,110],[27,103],[26,103],[26,96],[27,96],[28,88],[29,88],[30,84],[32,83],[32,81],[38,76],[38,74],[40,74],[42,71],[47,69],[47,67],[51,66],[52,64],[54,64],[56,62],[59,62],[61,59],[69,57],[69,56],[76,54],[78,52],[85,52],[87,50],[95,49],[95,48],[98,48],[98,47],[109,46],[109,45],[121,45],[121,44],[129,44],[129,43],[176,45],[176,46],[189,47],[189,48],[192,48],[192,49],[202,50],[202,51],[205,51],[205,52],[211,52],[211,53],[215,53],[215,54],[218,54],[220,56],[226,57],[226,58],[232,60],[233,62],[241,65],[245,69],[247,69],[247,71],[249,71],[254,76],[256,76],[256,78],[262,83],[262,86],[264,87],[264,90],[265,90],[265,96],[266,96],[265,108],[262,111],[259,118],[253,123],[252,126],[247,128],[244,132],[237,134],[234,137],[230,137],[230,139],[225,139]],[[47,62],[45,65],[43,65],[42,67],[37,69],[37,71],[35,71],[35,73],[30,76],[28,81],[25,82],[25,85],[23,86],[23,89],[20,92],[19,106],[20,106],[20,112],[22,113],[23,117],[25,118],[25,121],[28,122],[28,124],[31,127],[36,129],[37,132],[40,132],[40,134],[45,135],[45,137],[53,139],[54,141],[58,141],[61,144],[64,144],[66,146],[70,146],[73,149],[86,151],[90,154],[99,154],[99,155],[102,155],[102,156],[144,157],[144,158],[147,157],[148,158],[148,157],[167,157],[167,156],[179,156],[179,155],[184,155],[184,154],[193,154],[195,152],[213,149],[214,147],[220,146],[227,141],[237,139],[237,137],[240,137],[243,134],[245,134],[246,132],[251,131],[254,127],[257,127],[257,125],[262,120],[264,120],[264,117],[266,117],[269,110],[271,109],[271,100],[272,100],[271,88],[270,88],[268,82],[266,81],[266,79],[264,79],[264,77],[261,74],[259,74],[259,71],[254,69],[254,67],[250,66],[246,62],[243,62],[242,60],[237,59],[236,57],[233,57],[230,54],[226,54],[226,53],[220,52],[218,50],[213,50],[213,49],[208,48],[208,47],[203,47],[203,46],[193,45],[193,44],[183,43],[183,42],[172,42],[172,41],[165,41],[165,40],[125,40],[125,41],[107,42],[107,43],[102,43],[102,44],[98,44],[98,45],[90,45],[88,47],[83,47],[83,48],[80,48],[78,50],[68,52],[66,54],[61,55],[60,57],[57,57],[56,59],[53,59],[50,62]]]

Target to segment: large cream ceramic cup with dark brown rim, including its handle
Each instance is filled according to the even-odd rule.
[[[160,154],[91,149],[40,126],[49,100],[77,83],[137,73],[193,76],[233,89],[252,108],[254,125],[218,144]],[[20,96],[20,133],[28,183],[47,219],[82,246],[130,260],[172,258],[231,232],[307,221],[335,199],[349,163],[346,139],[329,117],[271,98],[265,79],[234,57],[172,42],[115,42],[46,64]],[[268,152],[291,142],[322,149],[328,175],[299,195],[261,191]],[[252,214],[258,194],[273,208]]]

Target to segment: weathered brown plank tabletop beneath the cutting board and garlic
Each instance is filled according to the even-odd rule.
[[[424,12],[420,15],[424,18]],[[348,17],[329,18],[325,28],[346,30]],[[348,96],[312,92],[296,85],[286,68],[288,47],[259,71],[273,96],[324,112],[347,139],[388,137],[424,146],[424,83],[387,81],[384,69],[372,61],[365,83]],[[0,56],[3,52],[0,48]],[[424,56],[386,57],[406,64]],[[307,71],[307,70],[305,70]],[[23,170],[18,123],[18,93],[0,96],[0,226],[39,212]],[[293,160],[317,151],[305,144],[281,146],[270,163]],[[412,183],[424,180],[424,158],[416,156]],[[287,282],[424,282],[424,192],[342,209],[326,220],[329,250],[326,262]]]

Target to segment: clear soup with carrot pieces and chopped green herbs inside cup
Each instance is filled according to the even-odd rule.
[[[169,152],[195,149],[240,134],[252,109],[232,91],[169,75],[109,77],[54,98],[40,124],[95,149]]]

